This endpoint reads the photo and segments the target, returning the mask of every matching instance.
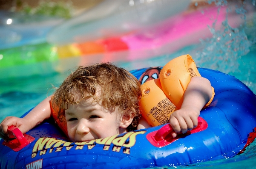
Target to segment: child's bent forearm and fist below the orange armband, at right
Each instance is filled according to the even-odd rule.
[[[173,137],[179,132],[186,133],[197,126],[200,111],[211,97],[212,88],[208,79],[198,76],[191,78],[184,92],[181,109],[170,115],[170,125],[175,131],[172,133]]]

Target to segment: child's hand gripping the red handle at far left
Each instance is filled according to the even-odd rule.
[[[6,117],[3,122],[0,123],[0,137],[4,140],[8,140],[9,133],[7,132],[8,127],[15,126],[20,129],[22,133],[26,133],[29,131],[28,128],[28,120],[24,118],[18,118],[14,116],[8,116]]]

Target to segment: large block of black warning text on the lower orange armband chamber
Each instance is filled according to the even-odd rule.
[[[168,115],[172,113],[175,108],[176,106],[168,98],[165,98],[150,110],[150,114],[152,114],[155,120],[161,125],[164,125],[169,122],[170,116]]]

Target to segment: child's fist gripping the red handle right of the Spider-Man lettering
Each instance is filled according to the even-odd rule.
[[[200,115],[200,110],[193,106],[183,107],[170,115],[170,125],[173,127],[173,138],[177,133],[186,133],[187,130],[192,130],[197,126],[197,118]]]

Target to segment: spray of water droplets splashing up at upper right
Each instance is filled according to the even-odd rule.
[[[219,8],[227,5],[226,0],[209,0],[208,2],[214,2]],[[236,6],[235,10],[237,14],[241,15],[245,25],[247,11],[244,7],[245,3],[241,7]],[[227,8],[227,14],[231,11],[231,8]],[[201,44],[204,44],[204,49],[197,53],[200,66],[225,73],[238,71],[237,59],[249,53],[251,45],[255,42],[247,39],[244,32],[245,27],[243,28],[242,25],[240,28],[232,28],[228,24],[228,17],[222,22],[220,30],[216,30],[216,21],[212,27],[209,26],[213,36],[206,40],[200,39]]]

